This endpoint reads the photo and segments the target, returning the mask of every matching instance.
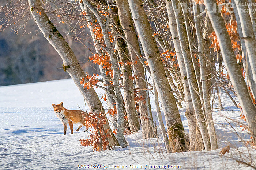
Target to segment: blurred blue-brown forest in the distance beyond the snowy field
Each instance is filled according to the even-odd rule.
[[[6,1],[0,0],[0,6]],[[4,13],[0,12],[0,25],[4,20]],[[14,24],[15,25],[15,24]],[[33,19],[26,22],[26,27],[10,27],[0,30],[0,86],[13,84],[34,83],[49,80],[70,78],[68,72],[62,69],[62,59],[54,48],[38,31]],[[71,40],[68,24],[61,24],[58,30],[75,53],[83,70],[89,74],[99,73],[98,66],[89,61],[92,53],[84,46],[94,50],[90,39],[83,42]],[[88,31],[88,30],[87,30]]]

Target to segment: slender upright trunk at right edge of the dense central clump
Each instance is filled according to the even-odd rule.
[[[193,11],[194,11],[194,21],[195,21],[195,29],[196,29],[196,36],[198,42],[198,56],[199,56],[199,64],[200,64],[200,76],[202,82],[202,94],[203,94],[203,101],[204,102],[204,110],[208,125],[208,132],[210,136],[211,142],[211,150],[218,149],[217,144],[217,137],[214,128],[214,122],[212,118],[212,109],[211,109],[211,79],[208,75],[211,75],[211,67],[207,67],[206,56],[204,56],[204,38],[201,30],[201,20],[202,17],[198,17],[199,15],[199,5],[193,2]],[[209,65],[209,63],[208,63]]]

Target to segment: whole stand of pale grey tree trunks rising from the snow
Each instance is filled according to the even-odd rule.
[[[116,108],[117,112],[111,119],[116,136],[109,122],[104,124],[104,129],[110,134],[110,145],[128,146],[124,137],[126,124],[131,133],[136,133],[141,127],[144,139],[156,137],[148,93],[153,90],[158,123],[168,152],[217,149],[211,100],[215,91],[219,95],[218,86],[226,88],[228,83],[234,87],[247,129],[255,142],[256,22],[252,12],[243,12],[253,10],[246,6],[248,3],[239,5],[243,1],[234,0],[229,6],[223,4],[221,12],[218,11],[220,2],[216,0],[79,1],[79,8],[75,8],[82,12],[83,19],[79,24],[87,25],[96,54],[105,56],[105,59],[108,56],[106,62],[111,64],[107,68],[99,63],[108,109]],[[80,78],[86,78],[86,74],[46,15],[44,4],[40,0],[28,2],[36,24],[63,59],[63,67],[74,80],[90,112],[105,114],[94,88],[86,89],[80,84]],[[193,6],[191,13],[187,10],[189,3]],[[236,39],[232,31],[236,33]],[[241,46],[234,47],[234,44]],[[240,52],[244,73],[237,62],[240,57],[236,58]],[[223,71],[216,71],[215,61],[222,66],[222,59],[228,76],[223,76]],[[106,71],[112,74],[106,74]],[[90,79],[85,82],[90,82]],[[189,137],[184,132],[177,107],[181,101],[186,102]],[[219,105],[222,108],[220,100]]]

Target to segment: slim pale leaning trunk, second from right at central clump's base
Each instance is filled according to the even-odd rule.
[[[195,110],[196,119],[200,128],[200,132],[202,134],[204,148],[208,151],[208,150],[211,150],[210,137],[208,134],[207,124],[204,118],[202,106],[200,104],[200,97],[196,94],[197,80],[196,80],[195,70],[193,67],[192,58],[191,58],[191,55],[189,54],[190,47],[189,47],[187,32],[185,30],[184,19],[180,11],[178,11],[178,4],[179,2],[177,0],[172,0],[172,8],[176,18],[180,46],[182,47],[181,48],[182,56],[185,61],[192,103]]]

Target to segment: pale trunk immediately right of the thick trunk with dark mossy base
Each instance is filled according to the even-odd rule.
[[[197,124],[195,111],[193,108],[193,103],[192,103],[191,95],[189,92],[187,72],[186,72],[186,67],[185,67],[184,59],[182,56],[182,50],[179,42],[175,15],[174,15],[171,1],[166,0],[165,2],[166,2],[167,13],[169,18],[170,32],[172,34],[172,41],[174,44],[178,64],[180,67],[181,79],[182,79],[183,88],[184,88],[183,91],[184,91],[185,102],[186,102],[185,116],[187,117],[187,120],[188,120],[188,129],[189,129],[189,143],[190,143],[189,150],[199,151],[204,148],[202,143],[202,135],[200,133],[200,129]]]

